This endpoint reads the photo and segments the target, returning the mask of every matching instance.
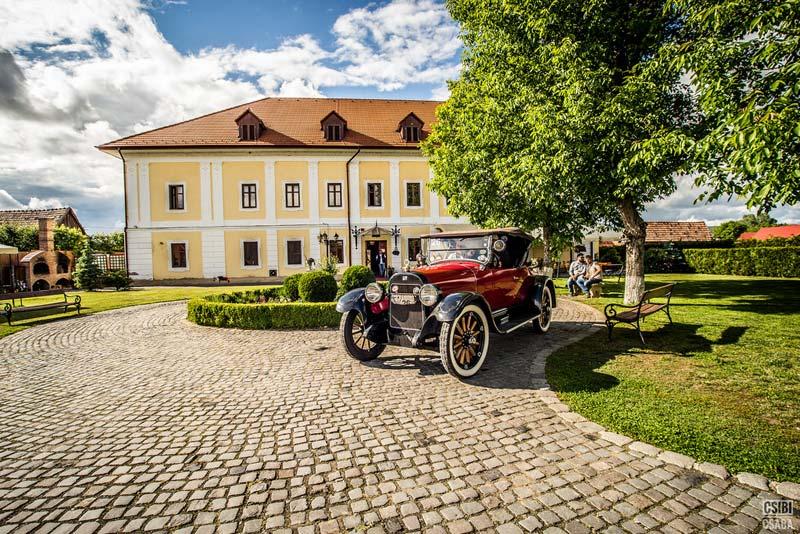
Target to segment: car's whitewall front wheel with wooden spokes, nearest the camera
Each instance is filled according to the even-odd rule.
[[[489,321],[483,310],[465,306],[453,322],[443,323],[439,334],[439,355],[451,375],[469,378],[477,373],[489,351]]]

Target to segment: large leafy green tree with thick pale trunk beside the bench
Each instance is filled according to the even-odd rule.
[[[477,224],[559,236],[621,222],[625,300],[644,290],[646,202],[671,193],[694,114],[662,60],[665,1],[450,0],[461,78],[424,143],[431,187]]]

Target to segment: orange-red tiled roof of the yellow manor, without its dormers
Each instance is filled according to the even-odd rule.
[[[421,132],[421,138],[424,138],[436,120],[435,110],[439,104],[428,100],[264,98],[124,137],[98,148],[417,148],[417,143],[403,141],[397,132],[397,125],[409,113],[413,113],[424,122]],[[239,141],[236,118],[248,108],[264,122],[266,130],[256,141]],[[326,141],[320,128],[320,121],[332,111],[347,121],[347,132],[341,141]]]

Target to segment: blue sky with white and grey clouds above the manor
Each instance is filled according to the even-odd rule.
[[[0,0],[0,209],[119,229],[122,165],[94,146],[271,95],[444,99],[460,50],[437,0]],[[647,218],[747,212],[697,193],[681,180]]]

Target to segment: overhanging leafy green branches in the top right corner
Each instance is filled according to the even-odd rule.
[[[685,25],[674,64],[690,73],[705,134],[703,198],[737,195],[769,211],[800,201],[797,0],[674,0]]]

